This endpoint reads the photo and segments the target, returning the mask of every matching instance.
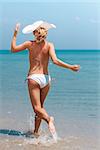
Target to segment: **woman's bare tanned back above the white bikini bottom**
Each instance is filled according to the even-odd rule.
[[[31,41],[29,47],[29,73],[31,74],[48,74],[48,62],[49,62],[49,44],[44,41],[37,44],[35,41]]]

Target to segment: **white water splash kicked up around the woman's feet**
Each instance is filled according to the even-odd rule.
[[[57,143],[58,140],[60,139],[57,135],[57,132],[50,133],[49,130],[43,131],[43,127],[41,126],[40,129],[40,136],[36,137],[32,131],[34,130],[34,115],[30,113],[29,116],[29,132],[27,132],[27,138],[24,139],[24,144],[42,144],[42,145],[51,145],[53,143]]]

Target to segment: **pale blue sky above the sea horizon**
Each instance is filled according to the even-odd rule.
[[[56,25],[50,29],[47,40],[56,49],[100,50],[100,1],[99,0],[3,0],[0,1],[0,50],[9,50],[15,24],[20,22],[17,44],[32,40],[24,35],[23,27],[37,20]]]

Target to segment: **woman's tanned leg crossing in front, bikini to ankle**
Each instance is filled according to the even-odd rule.
[[[40,87],[37,82],[34,80],[28,80],[28,90],[31,99],[31,104],[34,109],[34,112],[38,117],[44,119],[47,123],[50,121],[50,117],[47,114],[46,110],[41,107],[40,102]]]

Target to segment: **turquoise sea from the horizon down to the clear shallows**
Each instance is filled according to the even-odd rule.
[[[66,63],[79,64],[79,72],[49,63],[51,89],[45,108],[55,117],[58,141],[46,124],[39,139],[27,136],[34,112],[27,82],[28,51],[0,50],[1,150],[100,150],[100,51],[56,50]]]

